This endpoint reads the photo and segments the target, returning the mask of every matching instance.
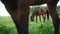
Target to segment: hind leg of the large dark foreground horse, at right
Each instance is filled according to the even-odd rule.
[[[59,34],[59,17],[56,11],[57,1],[53,1],[52,3],[47,3],[49,13],[53,20],[54,25],[54,34]]]

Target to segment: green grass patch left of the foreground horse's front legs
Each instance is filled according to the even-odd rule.
[[[11,17],[0,16],[0,34],[18,34]]]

